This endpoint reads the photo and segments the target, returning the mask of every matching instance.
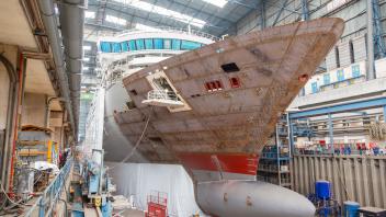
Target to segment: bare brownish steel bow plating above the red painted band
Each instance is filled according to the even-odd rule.
[[[339,19],[319,19],[237,36],[171,57],[124,78],[136,108],[114,117],[122,133],[135,144],[150,116],[146,134],[151,138],[145,138],[138,150],[150,161],[174,156],[170,162],[184,164],[191,174],[180,153],[259,155],[280,114],[342,30]],[[240,70],[225,73],[220,66],[229,62]],[[152,90],[146,78],[158,70],[164,72],[190,111],[170,112],[141,103]],[[240,80],[239,88],[229,84],[234,77]],[[207,92],[204,83],[212,80],[219,80],[224,88]],[[151,139],[162,144],[168,155],[163,149],[158,151]]]

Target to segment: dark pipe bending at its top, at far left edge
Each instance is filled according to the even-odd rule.
[[[8,189],[8,182],[5,181],[5,174],[8,174],[8,169],[9,169],[9,148],[10,144],[12,141],[12,135],[13,135],[13,117],[14,114],[16,113],[16,104],[18,104],[18,87],[19,87],[19,77],[18,72],[14,70],[11,61],[4,57],[2,54],[0,54],[0,62],[2,62],[9,73],[10,78],[10,88],[9,88],[9,95],[8,95],[8,108],[7,108],[7,126],[5,126],[5,135],[4,135],[4,146],[1,148],[2,151],[2,164],[1,164],[1,185],[5,186]]]

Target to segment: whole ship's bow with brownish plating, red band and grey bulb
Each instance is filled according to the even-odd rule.
[[[135,106],[113,117],[133,145],[129,152],[135,150],[149,162],[182,164],[207,214],[313,216],[315,207],[305,197],[257,182],[256,174],[277,118],[343,26],[340,19],[319,19],[272,27],[184,53],[124,78]],[[147,103],[154,100],[149,93],[159,78],[183,107]],[[282,203],[282,196],[287,202]]]

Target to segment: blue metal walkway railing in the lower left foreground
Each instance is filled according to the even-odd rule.
[[[24,215],[25,217],[35,217],[36,210],[38,209],[38,216],[52,216],[53,209],[55,210],[55,205],[58,202],[61,191],[66,185],[66,181],[69,178],[68,173],[72,165],[72,158],[68,158],[66,164],[60,170],[59,174],[52,181],[52,183],[46,187],[43,194],[37,198],[35,204],[29,209]]]

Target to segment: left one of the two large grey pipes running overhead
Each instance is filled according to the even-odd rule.
[[[54,61],[56,66],[56,76],[59,79],[59,89],[63,98],[65,99],[65,106],[68,111],[69,121],[71,123],[71,129],[73,135],[76,135],[76,123],[72,112],[72,102],[69,94],[68,77],[66,73],[66,65],[64,61],[64,54],[61,48],[61,39],[59,36],[57,19],[55,14],[54,3],[52,0],[38,0],[38,7],[41,9],[42,20],[46,27],[46,34],[48,36],[48,42],[52,47]]]

